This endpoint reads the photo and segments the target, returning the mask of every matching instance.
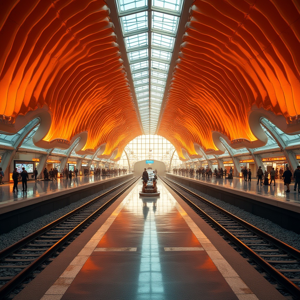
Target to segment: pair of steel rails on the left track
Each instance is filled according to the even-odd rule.
[[[84,205],[82,205],[82,206],[79,207],[79,208],[81,208],[80,210],[82,210],[83,208],[85,208],[86,206],[88,206],[88,203],[91,204],[91,203],[97,201],[99,199],[99,197],[106,196],[107,194],[111,193],[112,191],[115,191],[117,188],[120,188],[122,185],[125,185],[126,183],[128,183],[131,180],[132,179],[124,182],[123,184],[118,185],[117,187],[113,188],[112,190],[110,190],[110,191],[108,191],[106,193],[103,193],[102,195],[100,195],[100,196],[92,199],[91,201],[85,203]],[[44,263],[52,255],[52,253],[54,253],[55,251],[57,251],[65,242],[67,242],[72,236],[74,236],[79,230],[81,230],[82,227],[84,227],[90,220],[92,220],[96,215],[98,215],[108,204],[110,204],[110,202],[112,202],[114,199],[118,198],[122,193],[125,192],[125,190],[128,189],[128,187],[130,187],[132,184],[134,184],[135,182],[137,182],[137,180],[139,180],[139,177],[137,179],[135,179],[134,182],[132,182],[131,184],[129,184],[127,187],[125,187],[124,189],[122,189],[118,194],[116,194],[115,196],[113,196],[106,203],[104,203],[100,208],[98,208],[96,211],[94,211],[90,216],[88,216],[87,218],[85,218],[85,220],[83,220],[76,227],[74,227],[70,232],[68,232],[66,235],[64,235],[64,237],[62,237],[61,239],[59,239],[49,249],[47,249],[44,253],[42,253],[41,256],[39,256],[32,263],[30,263],[26,268],[24,268],[21,272],[19,272],[10,281],[8,281],[6,284],[4,284],[3,286],[1,286],[1,288],[0,288],[0,298],[1,299],[5,299],[5,296],[7,296],[10,292],[12,292],[13,289],[15,289],[34,270],[36,270],[42,263]],[[76,211],[76,212],[80,211],[79,208],[76,208],[74,211]],[[74,211],[71,211],[70,213],[68,213],[66,215],[68,215],[69,217],[73,216],[75,214]],[[63,217],[59,218],[58,220],[60,220],[60,222],[61,222],[61,221],[66,220],[66,219],[67,218],[65,216],[63,216]],[[48,228],[48,229],[50,229],[49,227],[52,228],[53,226],[55,226],[55,225],[58,224],[58,222],[57,222],[58,220],[50,223],[49,225],[44,226],[40,230],[37,230],[37,232],[41,231],[40,235],[43,234],[45,232],[44,228]],[[55,224],[55,225],[53,225],[53,224]],[[50,225],[52,225],[52,226],[50,226]],[[32,233],[30,236],[38,237],[39,235],[37,235],[37,232]],[[21,244],[23,244],[23,240],[24,239],[21,240],[22,241]],[[29,242],[30,242],[30,240],[29,240]],[[14,249],[16,249],[16,244],[17,243],[15,243],[15,244],[12,245]],[[6,249],[4,249],[4,250],[6,250]],[[2,250],[1,252],[2,253],[7,252],[7,251],[4,251],[4,250]]]

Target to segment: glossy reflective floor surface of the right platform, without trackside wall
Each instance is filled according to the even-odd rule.
[[[179,176],[179,174],[177,175]],[[215,176],[213,176],[212,178],[205,178],[200,176],[200,179],[197,176],[183,177],[199,180],[201,182],[209,182],[217,186],[224,186],[233,190],[240,190],[246,193],[262,195],[263,197],[276,199],[282,202],[295,202],[300,204],[300,193],[298,193],[298,187],[297,190],[294,191],[295,182],[292,182],[289,185],[290,193],[286,193],[286,186],[284,185],[282,179],[275,179],[276,185],[274,186],[273,182],[271,185],[260,185],[260,182],[259,184],[257,184],[257,178],[253,176],[251,182],[245,182],[244,178],[240,177],[233,177],[233,179],[222,179],[216,178]]]

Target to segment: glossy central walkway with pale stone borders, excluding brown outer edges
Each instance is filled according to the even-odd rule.
[[[140,188],[41,299],[258,299],[166,187],[158,182],[158,197]]]

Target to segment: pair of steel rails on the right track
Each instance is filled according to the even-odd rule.
[[[162,179],[162,178],[161,178]],[[205,218],[207,218],[214,226],[216,226],[226,237],[228,237],[234,244],[236,244],[238,247],[240,247],[250,258],[252,258],[257,264],[259,264],[268,274],[270,274],[273,278],[275,278],[280,284],[282,284],[283,287],[285,287],[292,295],[295,297],[299,297],[300,295],[300,288],[293,283],[291,280],[289,280],[287,277],[285,277],[282,273],[280,273],[276,268],[274,268],[271,264],[266,262],[262,257],[260,257],[257,253],[255,253],[251,248],[249,248],[246,244],[244,244],[240,239],[236,238],[231,232],[229,232],[226,228],[224,228],[220,223],[218,223],[216,220],[214,220],[212,217],[210,217],[205,211],[203,211],[201,208],[199,208],[195,203],[193,203],[190,199],[188,199],[186,196],[184,196],[182,193],[180,193],[178,190],[173,188],[168,182],[166,182],[164,179],[162,179],[164,183],[166,183],[169,187],[171,187],[180,197],[182,197],[185,201],[190,203],[193,208],[195,208],[197,211],[199,211]],[[206,204],[210,205],[211,207],[215,208],[217,211],[225,214],[227,217],[232,218],[232,220],[236,221],[237,223],[241,224],[242,226],[245,226],[247,229],[255,232],[257,235],[261,236],[265,240],[273,243],[276,247],[281,248],[282,250],[289,253],[291,256],[295,257],[296,259],[300,258],[300,251],[289,246],[288,244],[284,243],[283,241],[280,241],[277,238],[274,238],[273,236],[269,235],[268,233],[260,230],[259,228],[253,226],[252,224],[242,220],[239,217],[236,217],[235,215],[231,214],[230,212],[224,210],[223,208],[217,206],[216,204],[210,202],[209,200],[197,195],[196,193],[193,193],[192,191],[188,190],[187,188],[183,187],[181,184],[178,184],[177,182],[174,182],[173,180],[169,179],[170,182],[175,184],[176,186],[183,189],[185,192],[191,194],[192,196],[198,198],[199,200],[205,202]]]

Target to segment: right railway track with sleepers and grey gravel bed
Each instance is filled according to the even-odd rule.
[[[161,177],[160,177],[161,178]],[[161,178],[294,299],[300,299],[300,251],[168,178]],[[249,260],[249,259],[248,259]],[[255,266],[254,266],[255,267]]]

